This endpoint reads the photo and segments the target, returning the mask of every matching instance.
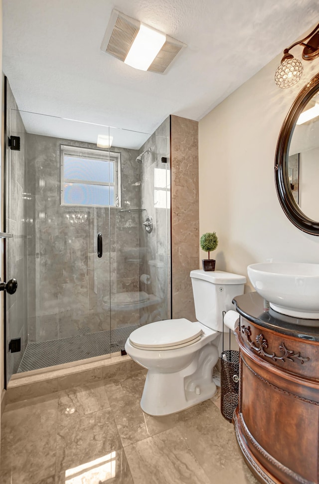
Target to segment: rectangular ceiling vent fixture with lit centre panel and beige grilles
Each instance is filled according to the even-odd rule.
[[[113,10],[101,50],[136,69],[162,74],[186,44]]]

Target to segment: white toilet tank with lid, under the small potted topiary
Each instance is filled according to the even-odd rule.
[[[235,309],[232,300],[244,293],[246,277],[222,270],[190,271],[197,321],[223,330],[223,311]]]

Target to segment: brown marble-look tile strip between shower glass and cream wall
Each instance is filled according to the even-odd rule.
[[[170,116],[172,317],[195,321],[189,272],[198,268],[198,123]]]

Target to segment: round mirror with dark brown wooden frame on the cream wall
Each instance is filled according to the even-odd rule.
[[[319,74],[302,89],[278,139],[276,189],[298,229],[319,236]]]

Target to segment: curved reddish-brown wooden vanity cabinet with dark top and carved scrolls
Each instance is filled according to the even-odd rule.
[[[319,321],[264,309],[256,292],[233,302],[243,456],[261,483],[319,484]]]

